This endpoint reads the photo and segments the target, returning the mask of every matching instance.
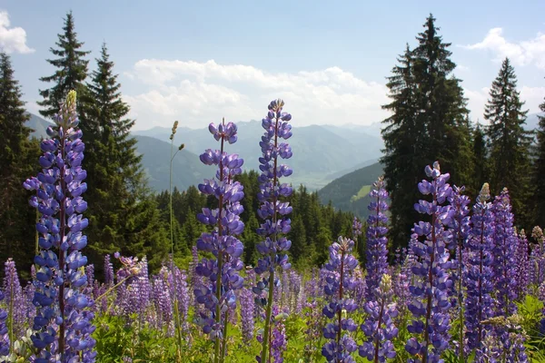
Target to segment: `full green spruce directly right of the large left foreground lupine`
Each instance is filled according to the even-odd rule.
[[[154,268],[167,253],[164,223],[159,212],[152,211],[156,202],[149,196],[142,155],[136,153],[136,140],[129,133],[134,120],[126,117],[129,106],[121,98],[121,84],[105,44],[96,63],[80,103],[87,183],[92,186],[85,197],[90,246],[96,259],[115,250],[148,253]]]

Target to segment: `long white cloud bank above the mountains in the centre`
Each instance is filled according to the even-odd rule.
[[[251,65],[217,64],[213,60],[144,59],[126,73],[143,83],[144,93],[125,96],[138,115],[138,129],[168,127],[173,119],[203,127],[225,116],[228,120],[261,120],[274,98],[286,102],[293,123],[369,124],[387,113],[387,88],[366,82],[339,67],[298,73],[268,73]]]

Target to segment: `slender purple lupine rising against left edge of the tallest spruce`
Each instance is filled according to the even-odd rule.
[[[367,219],[367,276],[365,277],[367,284],[365,298],[367,300],[374,299],[375,290],[381,283],[382,275],[388,271],[388,250],[386,248],[388,244],[386,238],[388,217],[384,214],[385,211],[388,211],[388,203],[386,202],[388,191],[384,189],[385,185],[384,178],[380,177],[372,184],[373,189],[369,193],[371,201],[367,209],[371,211],[371,214]]]

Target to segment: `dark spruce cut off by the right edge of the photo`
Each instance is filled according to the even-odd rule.
[[[540,110],[545,113],[545,98],[540,104]],[[540,124],[537,130],[536,161],[533,165],[533,225],[545,226],[545,115],[538,116]]]

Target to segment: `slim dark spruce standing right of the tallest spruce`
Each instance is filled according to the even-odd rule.
[[[522,111],[523,105],[515,70],[505,58],[484,112],[485,120],[490,122],[486,131],[490,142],[490,191],[500,194],[507,187],[517,224],[530,227],[526,225],[530,215],[524,204],[529,200],[532,138],[523,127],[528,113]]]

